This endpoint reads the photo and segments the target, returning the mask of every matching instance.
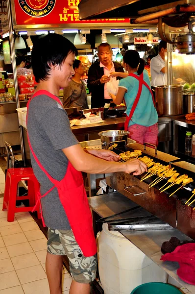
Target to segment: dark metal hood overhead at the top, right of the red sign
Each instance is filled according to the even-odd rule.
[[[168,3],[170,0],[158,0],[156,4]],[[154,5],[154,0],[81,0],[78,8],[80,19],[85,20],[97,18],[97,16],[98,18],[136,17],[140,9],[151,8]]]

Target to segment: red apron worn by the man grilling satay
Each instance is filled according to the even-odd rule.
[[[47,95],[62,105],[59,98],[57,98],[56,96],[52,95],[51,93],[45,90],[36,92],[31,99],[39,95]],[[31,99],[27,103],[27,109],[29,107],[29,103]],[[26,125],[27,125],[27,117],[26,117]],[[34,210],[38,204],[40,204],[40,207],[41,207],[41,201],[40,201],[41,198],[47,196],[49,192],[51,192],[54,188],[57,188],[60,201],[64,207],[67,218],[70,222],[75,240],[80,246],[84,256],[88,257],[88,256],[92,256],[96,254],[97,246],[96,246],[96,239],[95,239],[94,230],[93,230],[92,214],[90,211],[87,195],[85,192],[85,187],[83,184],[82,173],[76,171],[73,165],[71,164],[71,162],[69,161],[67,172],[64,178],[61,181],[55,180],[49,175],[49,173],[45,170],[45,168],[40,163],[39,159],[37,158],[30,144],[29,137],[28,137],[28,143],[29,143],[29,147],[32,152],[32,155],[36,163],[38,164],[39,168],[43,172],[45,172],[45,174],[47,175],[47,177],[53,184],[53,187],[46,194],[41,195],[41,193],[39,192],[38,201],[36,203],[36,206],[34,207]],[[42,209],[41,209],[41,216],[42,216],[43,225],[45,226]]]

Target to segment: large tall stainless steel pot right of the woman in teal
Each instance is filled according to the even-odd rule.
[[[183,114],[183,86],[156,86],[156,109],[159,115]]]

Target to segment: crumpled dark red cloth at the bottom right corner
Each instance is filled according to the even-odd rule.
[[[177,261],[180,268],[177,274],[184,282],[195,285],[195,244],[188,243],[177,246],[171,253],[161,256],[163,261]]]

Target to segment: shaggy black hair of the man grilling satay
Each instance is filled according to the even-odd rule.
[[[47,80],[51,66],[61,66],[71,52],[78,54],[73,43],[62,35],[50,33],[40,37],[32,49],[32,70],[36,82]]]

